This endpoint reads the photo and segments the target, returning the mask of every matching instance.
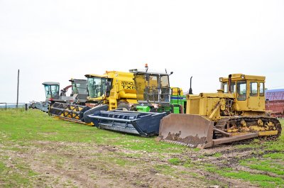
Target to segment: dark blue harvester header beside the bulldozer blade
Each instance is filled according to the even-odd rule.
[[[158,135],[160,119],[167,113],[138,111],[96,111],[87,115],[97,128],[132,133],[140,136]]]

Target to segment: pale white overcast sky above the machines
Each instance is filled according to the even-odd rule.
[[[284,88],[284,1],[0,0],[0,102],[43,101],[42,82],[106,70],[173,71],[173,87],[216,92],[231,73]]]

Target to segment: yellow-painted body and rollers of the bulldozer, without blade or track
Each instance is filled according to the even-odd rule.
[[[231,74],[231,93],[229,93],[229,88],[225,88],[229,84],[229,78],[222,77],[220,82],[223,87],[218,89],[216,93],[187,95],[186,114],[196,114],[215,122],[229,116],[239,116],[240,118],[266,116],[264,89],[261,89],[264,88],[265,79],[266,77],[261,76]],[[242,85],[242,87],[237,87],[237,85]],[[244,92],[245,90],[246,92]],[[238,128],[231,126],[226,132],[247,133],[261,131],[260,134],[263,135],[277,134],[275,131],[271,131],[276,130],[274,123],[268,122],[263,125],[261,118],[258,119],[254,126],[248,127],[248,122],[244,119],[240,123],[241,125]]]

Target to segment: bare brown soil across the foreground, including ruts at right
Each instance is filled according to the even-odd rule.
[[[15,161],[20,160],[36,172],[36,178],[31,179],[33,187],[257,187],[196,166],[185,167],[168,162],[175,157],[181,162],[190,159],[201,165],[206,163],[244,170],[236,156],[244,159],[253,154],[249,149],[236,149],[234,145],[185,150],[181,154],[163,156],[94,143],[38,141],[14,147],[20,150],[4,150],[4,145],[0,145],[0,155],[10,156],[8,165],[11,169]],[[222,153],[222,156],[212,156],[215,153]],[[202,155],[205,157],[200,157]],[[165,167],[165,170],[158,167]]]

